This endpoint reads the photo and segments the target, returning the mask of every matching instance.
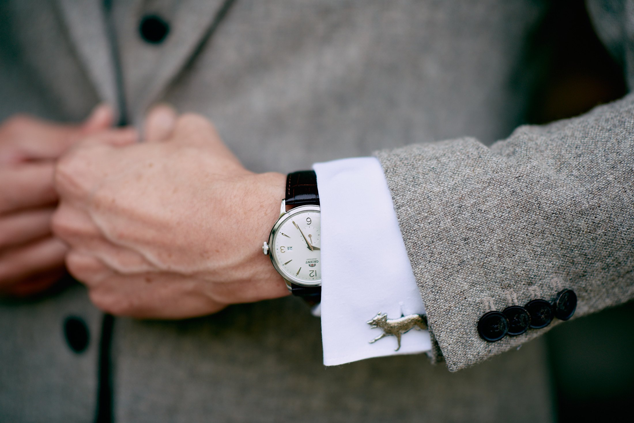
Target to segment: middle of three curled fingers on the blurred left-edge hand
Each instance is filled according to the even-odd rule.
[[[0,217],[0,251],[50,235],[53,212],[51,207]]]

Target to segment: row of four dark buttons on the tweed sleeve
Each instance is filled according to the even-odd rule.
[[[489,311],[477,323],[477,331],[485,341],[500,341],[506,335],[521,335],[529,328],[547,327],[553,318],[568,320],[577,308],[577,296],[571,289],[557,294],[552,303],[534,299],[526,306],[510,306],[503,311]]]

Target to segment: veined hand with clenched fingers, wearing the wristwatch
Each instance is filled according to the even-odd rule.
[[[261,252],[285,176],[247,171],[203,117],[174,116],[170,133],[162,113],[145,143],[96,135],[60,160],[53,230],[70,245],[70,273],[99,308],[143,318],[287,295]]]

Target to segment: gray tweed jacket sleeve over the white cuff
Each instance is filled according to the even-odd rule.
[[[562,289],[575,316],[634,296],[634,95],[491,147],[473,138],[377,153],[434,339],[452,371],[543,334],[486,342],[486,312]]]

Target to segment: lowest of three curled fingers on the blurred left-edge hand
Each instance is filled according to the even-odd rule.
[[[67,247],[57,238],[44,238],[0,255],[0,284],[63,266]]]

